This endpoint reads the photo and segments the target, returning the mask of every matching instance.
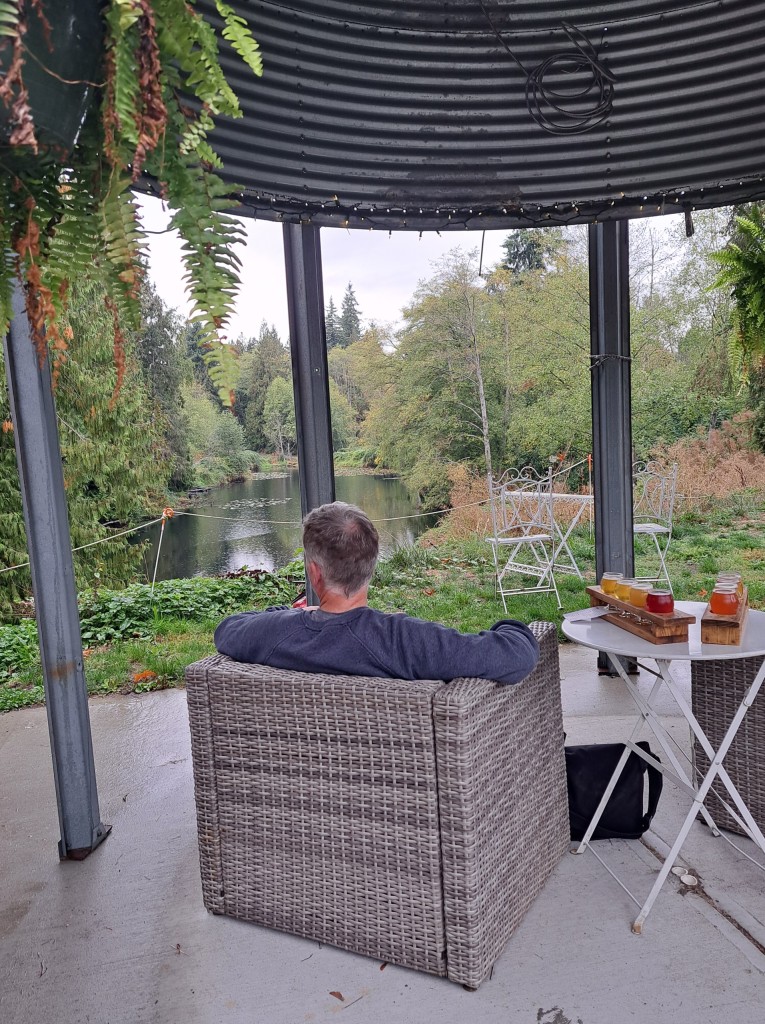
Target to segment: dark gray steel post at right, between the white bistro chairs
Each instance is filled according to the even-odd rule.
[[[595,571],[635,573],[632,534],[629,221],[591,224],[590,370]],[[605,655],[598,668],[612,672]]]

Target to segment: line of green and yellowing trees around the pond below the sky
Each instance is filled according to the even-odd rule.
[[[737,216],[736,216],[737,213]],[[637,456],[749,410],[765,444],[765,229],[759,207],[631,224],[633,442]],[[720,287],[716,287],[720,286]],[[759,303],[759,304],[758,304]],[[155,516],[168,492],[212,486],[296,452],[289,339],[261,324],[232,343],[231,410],[199,329],[146,284],[142,328],[117,371],[97,286],[78,282],[56,409],[73,544]],[[577,461],[591,443],[586,229],[508,234],[496,267],[456,249],[434,264],[398,329],[365,321],[352,284],[325,310],[336,465],[399,473],[424,508],[450,501],[456,466],[495,474]],[[4,380],[4,375],[3,375]],[[26,561],[5,389],[0,391],[0,560]],[[127,542],[77,555],[81,583],[129,578]],[[0,611],[29,593],[0,577]]]

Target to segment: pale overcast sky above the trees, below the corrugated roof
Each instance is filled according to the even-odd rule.
[[[163,230],[167,216],[159,200],[141,199],[143,223],[150,230]],[[287,340],[287,292],[285,287],[282,225],[264,220],[243,218],[247,245],[240,251],[243,262],[242,288],[237,301],[229,337],[256,335],[262,321],[272,324]],[[486,231],[483,247],[483,270],[496,265],[507,231]],[[180,246],[172,234],[152,234],[151,273],[164,301],[183,315],[188,305],[183,292]],[[480,251],[480,231],[343,230],[322,231],[325,302],[330,296],[340,305],[348,287],[353,285],[364,326],[371,321],[397,325],[401,307],[407,305],[420,281],[431,275],[432,264],[455,248]]]

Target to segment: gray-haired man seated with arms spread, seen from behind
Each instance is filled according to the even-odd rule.
[[[268,608],[224,618],[215,646],[238,662],[296,672],[520,682],[537,664],[532,632],[503,620],[481,633],[370,608],[377,530],[354,505],[333,502],[303,520],[303,549],[317,608]]]

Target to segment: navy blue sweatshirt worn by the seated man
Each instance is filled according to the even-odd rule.
[[[481,633],[458,633],[410,615],[353,608],[337,614],[296,608],[224,618],[215,646],[237,662],[296,672],[518,683],[539,659],[522,623],[506,618]]]

